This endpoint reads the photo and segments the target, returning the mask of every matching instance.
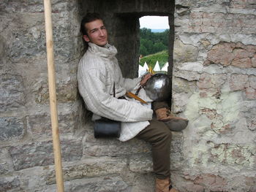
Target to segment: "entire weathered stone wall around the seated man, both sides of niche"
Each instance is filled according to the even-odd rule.
[[[0,2],[0,191],[56,191],[42,3]],[[52,9],[65,191],[154,191],[146,142],[94,139],[76,80],[89,10],[102,12],[126,77],[138,71],[138,18],[167,15],[175,26],[172,110],[189,127],[173,132],[173,184],[256,191],[253,0],[53,0]]]

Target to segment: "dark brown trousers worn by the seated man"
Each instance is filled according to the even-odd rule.
[[[165,102],[154,102],[153,110],[161,107],[167,107]],[[149,121],[150,125],[144,128],[136,136],[149,142],[152,147],[153,169],[158,179],[170,177],[170,141],[171,131],[165,123],[157,119]]]

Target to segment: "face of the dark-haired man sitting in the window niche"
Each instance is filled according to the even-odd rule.
[[[99,46],[104,46],[108,42],[108,31],[106,30],[102,20],[94,20],[86,23],[86,31],[88,35],[84,35],[86,42],[92,42]]]

